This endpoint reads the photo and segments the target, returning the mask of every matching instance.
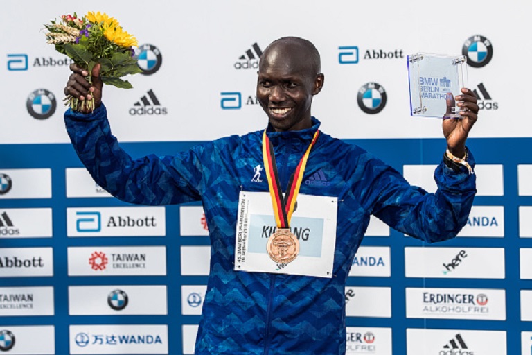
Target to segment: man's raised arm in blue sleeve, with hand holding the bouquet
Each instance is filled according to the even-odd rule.
[[[132,159],[112,135],[105,105],[99,66],[93,70],[92,85],[87,71],[73,71],[64,93],[80,100],[94,97],[94,112],[67,110],[65,125],[74,149],[97,184],[116,198],[140,205],[170,205],[200,200],[204,182],[198,146],[175,156],[148,155]],[[96,75],[95,75],[96,74]]]

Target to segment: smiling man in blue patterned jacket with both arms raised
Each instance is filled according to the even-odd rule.
[[[98,67],[92,86],[83,78],[87,72],[71,69],[65,94],[94,96],[98,107],[91,114],[65,114],[73,146],[94,180],[131,203],[203,203],[211,271],[196,354],[344,354],[344,287],[370,215],[427,242],[450,239],[467,222],[476,190],[465,139],[479,110],[469,89],[456,96],[459,107],[467,109],[463,118],[443,121],[449,156],[456,162],[444,156],[435,172],[438,191],[430,194],[409,186],[397,171],[361,148],[317,133],[319,121],[310,109],[324,76],[319,54],[307,40],[281,38],[260,58],[257,98],[268,116],[266,137],[263,130],[226,137],[168,157],[133,160],[127,155],[111,135],[100,105]],[[263,146],[267,140],[271,150]],[[261,146],[275,158],[272,171],[277,169],[282,191],[305,156],[303,174],[321,171],[330,182],[319,188],[303,184],[301,193],[338,200],[332,277],[235,270],[239,193],[271,192],[275,180],[273,175],[262,183],[255,179],[257,166],[269,171]]]

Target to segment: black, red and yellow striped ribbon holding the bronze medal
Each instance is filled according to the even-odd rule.
[[[303,172],[305,166],[307,166],[308,155],[310,155],[310,149],[318,140],[319,130],[314,133],[314,138],[307,148],[307,151],[301,157],[296,171],[290,177],[288,187],[283,198],[283,191],[281,191],[281,183],[279,182],[279,175],[277,173],[277,165],[275,162],[274,146],[269,141],[266,135],[266,130],[263,133],[263,159],[266,176],[268,179],[269,195],[272,196],[272,205],[274,206],[275,222],[278,228],[288,228],[290,226],[290,220],[292,219],[292,213],[296,205],[297,195],[299,188],[301,187],[301,181],[303,180]]]

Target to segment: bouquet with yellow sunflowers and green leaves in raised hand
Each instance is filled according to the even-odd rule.
[[[138,43],[130,33],[123,31],[118,21],[107,14],[87,12],[78,17],[62,15],[60,21],[50,21],[44,25],[48,30],[46,39],[48,44],[54,44],[55,49],[67,55],[78,66],[89,73],[87,80],[91,83],[92,69],[100,63],[100,77],[104,84],[130,89],[132,85],[122,80],[127,74],[140,73],[142,69],[136,64],[133,46]],[[94,110],[94,98],[80,101],[69,95],[65,105],[74,111]]]

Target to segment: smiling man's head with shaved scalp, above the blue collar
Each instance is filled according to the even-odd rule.
[[[276,131],[310,128],[312,96],[322,85],[300,46],[274,44],[260,59],[257,99]]]

